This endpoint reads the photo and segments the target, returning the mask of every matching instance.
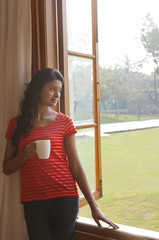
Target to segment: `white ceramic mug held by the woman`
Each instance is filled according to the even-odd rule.
[[[48,159],[50,156],[50,140],[36,140],[36,153],[39,159]]]

